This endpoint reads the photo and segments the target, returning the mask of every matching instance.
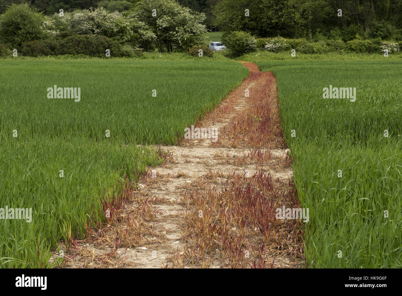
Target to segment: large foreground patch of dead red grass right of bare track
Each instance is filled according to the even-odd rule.
[[[273,267],[275,256],[302,258],[300,220],[275,218],[276,208],[297,207],[294,188],[261,171],[227,179],[222,188],[200,180],[196,186],[206,190],[185,194],[182,235],[188,243],[166,267],[263,268]]]

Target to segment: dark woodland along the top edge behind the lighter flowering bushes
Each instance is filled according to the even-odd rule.
[[[353,39],[398,38],[402,0],[171,0],[202,12],[209,31],[245,31],[256,37],[309,38],[314,35]],[[147,0],[0,0],[0,13],[12,4],[29,3],[51,15],[103,7],[109,12],[131,10]],[[245,10],[248,10],[248,16]]]

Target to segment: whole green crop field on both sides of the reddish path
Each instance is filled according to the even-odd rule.
[[[402,267],[402,62],[257,64],[277,78],[298,199],[310,209],[308,266]],[[104,219],[103,195],[160,163],[146,145],[176,144],[248,74],[216,60],[43,58],[0,67],[0,208],[32,208],[31,222],[2,220],[1,267],[51,266],[60,239]],[[49,98],[54,85],[79,87],[80,100]],[[356,88],[355,101],[323,98],[330,86]]]

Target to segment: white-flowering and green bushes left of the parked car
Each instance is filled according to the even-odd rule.
[[[125,10],[132,6],[126,1],[100,4],[105,4],[110,10]],[[152,16],[156,7],[158,13]],[[109,47],[115,52],[112,56],[136,56],[141,49],[155,48],[159,51],[187,51],[205,40],[204,19],[204,14],[170,0],[139,2],[135,8],[123,13],[91,8],[65,11],[63,16],[55,12],[50,17],[38,13],[28,4],[12,5],[0,16],[0,42],[18,50],[24,45],[23,52],[31,56],[57,55],[65,51],[67,54],[103,56],[99,50],[104,52],[104,48]],[[82,39],[76,34],[91,37]],[[52,42],[57,44],[53,46]],[[84,49],[85,46],[88,49]]]

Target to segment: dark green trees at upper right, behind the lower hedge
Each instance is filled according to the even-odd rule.
[[[342,9],[342,16],[338,16],[338,9]],[[353,40],[356,34],[402,37],[402,0],[221,0],[213,13],[213,24],[221,31],[243,30],[258,37],[311,38],[322,34],[343,41]]]

